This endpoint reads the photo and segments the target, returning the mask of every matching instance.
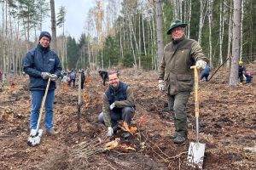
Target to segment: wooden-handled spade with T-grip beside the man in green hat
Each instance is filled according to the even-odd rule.
[[[196,66],[191,66],[191,69],[194,69],[195,73],[195,133],[196,133],[196,142],[190,142],[189,144],[189,153],[188,153],[188,162],[187,165],[191,167],[198,167],[202,169],[204,154],[206,144],[199,143],[198,133],[199,133],[199,101],[198,101],[198,72]]]

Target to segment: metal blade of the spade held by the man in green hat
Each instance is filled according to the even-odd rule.
[[[190,142],[187,165],[202,168],[206,144]]]

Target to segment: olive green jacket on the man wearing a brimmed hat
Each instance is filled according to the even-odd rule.
[[[159,80],[164,80],[166,94],[175,95],[193,89],[194,75],[190,66],[199,59],[207,61],[195,40],[183,37],[180,42],[172,41],[166,45],[159,74]]]

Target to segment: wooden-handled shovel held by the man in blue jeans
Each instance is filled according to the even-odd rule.
[[[39,113],[39,117],[38,117],[38,125],[36,128],[37,133],[35,135],[30,135],[27,139],[27,145],[29,145],[29,146],[36,146],[36,145],[40,144],[40,140],[41,140],[41,137],[43,134],[43,129],[39,129],[39,126],[40,126],[41,117],[42,117],[43,111],[44,111],[45,99],[48,94],[49,82],[50,82],[50,78],[48,79],[47,86],[46,86],[45,93],[44,93],[44,98],[43,98],[42,105],[40,108],[40,113]]]

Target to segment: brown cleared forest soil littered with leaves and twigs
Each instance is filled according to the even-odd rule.
[[[255,73],[256,64],[247,65]],[[255,74],[254,74],[255,75]],[[103,150],[112,139],[96,122],[102,111],[102,79],[90,72],[77,128],[78,88],[55,90],[56,137],[43,134],[36,147],[26,144],[31,97],[28,77],[0,83],[1,169],[193,169],[186,165],[189,142],[195,142],[195,105],[187,105],[189,139],[174,144],[172,116],[166,94],[157,88],[156,71],[121,70],[120,80],[134,89],[137,133],[120,139],[131,150]],[[203,169],[256,169],[256,82],[230,87],[224,69],[210,82],[200,82],[200,142],[206,144]],[[44,123],[41,123],[44,128]],[[254,149],[254,152],[253,152]]]

